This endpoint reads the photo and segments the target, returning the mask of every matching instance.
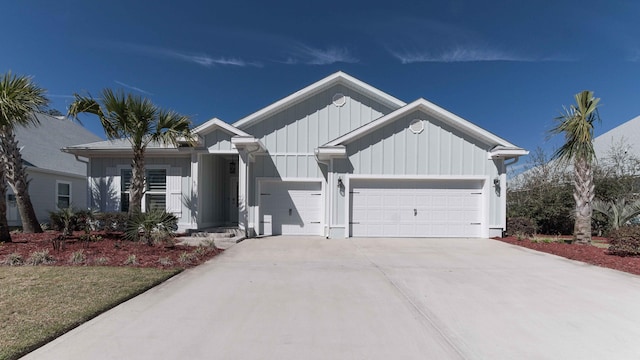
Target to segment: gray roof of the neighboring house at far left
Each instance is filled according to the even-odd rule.
[[[22,159],[27,166],[56,172],[86,175],[86,164],[72,154],[61,151],[63,147],[100,140],[100,137],[77,122],[64,117],[45,114],[35,115],[37,126],[15,129]]]

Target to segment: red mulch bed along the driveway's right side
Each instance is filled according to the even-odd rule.
[[[518,240],[513,236],[505,238],[495,238],[495,240],[500,240],[509,244],[562,256],[571,260],[582,261],[591,265],[640,275],[640,257],[622,257],[609,255],[606,249],[596,246],[565,244],[558,242],[532,242],[528,239]],[[607,240],[604,238],[594,238],[593,241],[606,243]]]

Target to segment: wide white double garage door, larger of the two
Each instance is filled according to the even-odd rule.
[[[351,235],[480,237],[482,180],[352,179]]]

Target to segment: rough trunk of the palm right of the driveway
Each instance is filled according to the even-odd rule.
[[[573,230],[574,242],[577,244],[591,244],[591,216],[593,209],[591,202],[595,195],[593,172],[591,164],[584,159],[578,159],[574,163],[574,193],[576,200],[576,222]]]

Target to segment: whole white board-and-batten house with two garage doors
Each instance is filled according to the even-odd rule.
[[[487,237],[505,229],[506,167],[528,152],[424,100],[405,103],[345,73],[198,145],[147,150],[145,209],[181,230],[235,225],[275,234]],[[126,141],[69,146],[90,159],[91,207],[127,207]]]

